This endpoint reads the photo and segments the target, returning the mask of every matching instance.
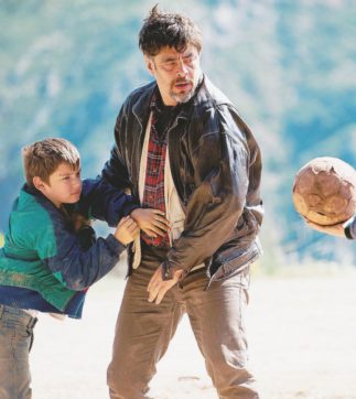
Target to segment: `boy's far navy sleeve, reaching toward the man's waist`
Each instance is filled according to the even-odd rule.
[[[121,217],[139,207],[131,195],[125,194],[100,177],[83,181],[80,199],[75,211],[89,218],[105,220],[115,227]]]

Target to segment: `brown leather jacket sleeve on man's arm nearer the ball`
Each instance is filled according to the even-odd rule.
[[[184,230],[163,262],[165,271],[188,272],[213,256],[233,236],[246,204],[249,165],[256,153],[250,153],[244,131],[228,110],[212,109],[203,123],[201,139],[191,150],[195,190]]]

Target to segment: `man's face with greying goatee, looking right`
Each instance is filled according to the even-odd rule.
[[[144,56],[148,71],[154,76],[166,106],[188,101],[201,76],[199,53],[188,45],[180,53],[174,47],[163,47],[154,56]]]

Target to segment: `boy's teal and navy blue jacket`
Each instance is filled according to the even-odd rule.
[[[111,234],[95,239],[90,227],[89,234],[88,227],[75,231],[72,216],[114,227],[137,207],[100,180],[85,180],[79,202],[63,211],[24,185],[0,249],[0,303],[80,317],[86,289],[115,267],[126,247]]]

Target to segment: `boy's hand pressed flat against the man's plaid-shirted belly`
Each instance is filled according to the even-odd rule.
[[[170,229],[170,222],[164,217],[164,212],[159,209],[142,209],[137,208],[131,212],[130,216],[150,237],[164,237]]]

